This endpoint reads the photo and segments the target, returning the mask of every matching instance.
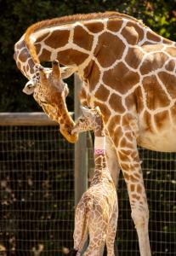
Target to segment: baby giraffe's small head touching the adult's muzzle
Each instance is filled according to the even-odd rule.
[[[77,119],[76,125],[71,131],[71,134],[94,130],[96,136],[102,136],[104,125],[103,116],[99,107],[91,109],[82,107],[81,109],[82,115]]]

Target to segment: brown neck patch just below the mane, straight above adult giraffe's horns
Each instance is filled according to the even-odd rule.
[[[45,40],[45,44],[48,44],[50,47],[57,49],[68,43],[70,32],[63,31],[54,31],[52,34]]]

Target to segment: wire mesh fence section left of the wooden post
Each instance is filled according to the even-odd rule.
[[[73,145],[55,126],[0,126],[0,148],[2,253],[63,255],[72,246]]]

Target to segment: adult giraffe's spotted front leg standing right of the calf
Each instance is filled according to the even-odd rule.
[[[141,256],[150,256],[148,234],[149,210],[141,172],[136,138],[131,127],[122,127],[122,134],[116,134],[116,153],[127,183],[132,218],[139,237]]]

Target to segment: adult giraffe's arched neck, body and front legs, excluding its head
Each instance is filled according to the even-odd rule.
[[[72,15],[30,26],[14,59],[30,83],[37,64],[58,59],[83,81],[82,105],[104,115],[108,166],[127,183],[140,255],[150,256],[149,212],[137,144],[176,151],[176,45],[128,15]]]

